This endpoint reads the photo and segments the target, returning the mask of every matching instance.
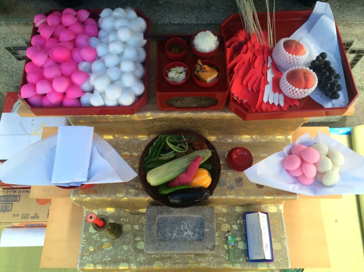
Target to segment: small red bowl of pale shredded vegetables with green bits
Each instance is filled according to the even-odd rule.
[[[186,64],[174,61],[165,66],[163,74],[165,80],[174,86],[182,85],[185,83],[190,76],[190,69]]]

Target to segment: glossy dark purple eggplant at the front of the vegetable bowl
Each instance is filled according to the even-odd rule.
[[[207,200],[212,191],[204,187],[176,190],[168,195],[168,201],[173,204],[191,205]]]

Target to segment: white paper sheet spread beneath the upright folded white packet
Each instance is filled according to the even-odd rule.
[[[0,180],[19,185],[80,186],[80,182],[52,183],[57,135],[39,140],[0,165]],[[88,180],[82,184],[127,182],[136,177],[128,163],[94,133]]]

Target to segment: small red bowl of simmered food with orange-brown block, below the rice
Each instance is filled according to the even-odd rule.
[[[193,69],[193,78],[196,84],[207,88],[215,85],[220,79],[220,68],[211,60],[200,60]]]

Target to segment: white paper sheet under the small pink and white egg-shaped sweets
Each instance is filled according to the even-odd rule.
[[[302,185],[296,177],[291,176],[283,168],[283,160],[288,155],[291,155],[290,150],[294,145],[302,144],[311,146],[314,143],[326,144],[329,150],[339,151],[345,158],[345,163],[340,167],[339,171],[340,179],[334,186],[327,187],[317,180],[312,185]],[[296,143],[287,145],[283,151],[256,163],[245,170],[244,173],[253,183],[300,194],[329,195],[364,193],[364,157],[322,132],[318,132],[318,135],[313,140],[308,133],[300,136]]]

